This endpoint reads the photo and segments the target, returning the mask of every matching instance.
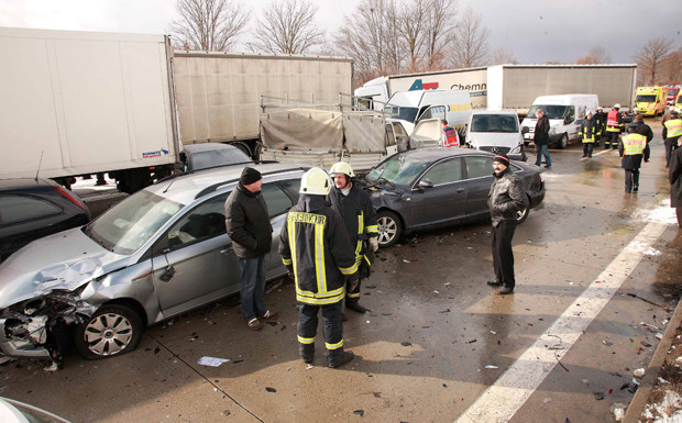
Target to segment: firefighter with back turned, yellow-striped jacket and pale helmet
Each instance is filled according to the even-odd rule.
[[[308,364],[314,360],[318,311],[322,309],[327,364],[339,367],[353,359],[353,353],[343,350],[345,278],[353,283],[359,280],[343,219],[326,202],[330,189],[329,175],[319,167],[304,174],[301,196],[287,213],[279,234],[279,254],[296,281],[300,357]]]

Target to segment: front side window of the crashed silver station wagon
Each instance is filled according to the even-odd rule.
[[[229,193],[212,198],[187,213],[168,231],[170,249],[226,233],[224,203]]]

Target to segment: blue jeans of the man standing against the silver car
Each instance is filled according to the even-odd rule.
[[[265,308],[265,255],[256,258],[240,258],[242,276],[239,279],[239,294],[242,300],[242,315],[249,322],[263,315]]]

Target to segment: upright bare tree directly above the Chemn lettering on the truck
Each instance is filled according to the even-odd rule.
[[[475,67],[485,64],[490,31],[471,5],[459,20],[451,40],[451,60],[454,67]]]

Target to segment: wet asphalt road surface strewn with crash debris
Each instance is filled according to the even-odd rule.
[[[517,288],[497,296],[490,222],[409,236],[382,249],[348,311],[356,358],[298,357],[294,287],[266,302],[279,321],[252,332],[229,299],[152,326],[138,350],[64,369],[14,360],[0,394],[74,422],[608,422],[646,367],[682,292],[682,235],[660,126],[638,193],[617,152],[552,149],[544,203],[514,238]],[[534,155],[534,151],[529,151]],[[535,157],[529,158],[532,163]],[[204,356],[229,358],[220,367]]]

